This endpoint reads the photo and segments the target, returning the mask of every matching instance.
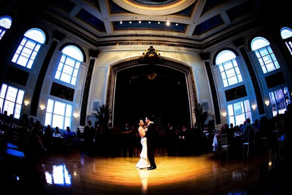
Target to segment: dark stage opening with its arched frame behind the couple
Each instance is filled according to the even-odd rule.
[[[110,67],[107,103],[114,126],[136,125],[154,116],[164,125],[194,124],[197,98],[191,68],[170,59],[161,64],[140,64],[138,59]]]

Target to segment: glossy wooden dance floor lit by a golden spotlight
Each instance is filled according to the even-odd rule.
[[[1,194],[279,195],[288,189],[288,166],[271,151],[228,160],[214,153],[158,156],[155,170],[135,168],[138,160],[79,151],[46,154],[17,167],[3,160]]]

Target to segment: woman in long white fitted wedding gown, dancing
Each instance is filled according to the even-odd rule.
[[[144,121],[142,119],[139,120],[138,132],[141,137],[142,151],[140,154],[140,160],[137,162],[136,167],[139,169],[144,169],[150,167],[150,162],[147,156],[147,138],[145,137],[146,130],[144,129]]]

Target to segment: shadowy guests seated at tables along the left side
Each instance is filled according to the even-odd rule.
[[[19,119],[15,119],[13,115],[8,116],[7,111],[0,115],[1,130],[5,132],[5,140],[9,140],[13,132],[16,131],[21,135],[19,138],[23,145],[21,148],[26,157],[29,159],[37,159],[45,153],[53,152],[53,150],[64,151],[66,146],[73,144],[73,137],[80,137],[80,129],[75,132],[70,127],[65,132],[61,132],[58,127],[55,130],[50,124],[44,126],[39,120],[28,117],[23,114]],[[54,139],[59,138],[59,139]]]

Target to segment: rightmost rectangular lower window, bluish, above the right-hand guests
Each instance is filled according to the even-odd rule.
[[[277,113],[284,114],[287,110],[287,105],[291,103],[288,87],[270,92],[269,97],[272,104],[273,116],[276,116]]]

